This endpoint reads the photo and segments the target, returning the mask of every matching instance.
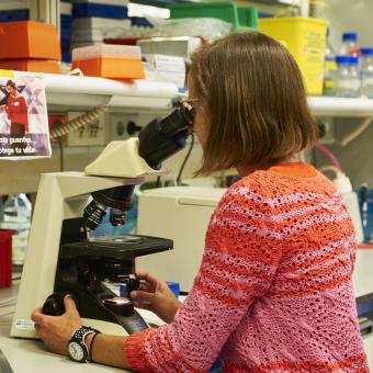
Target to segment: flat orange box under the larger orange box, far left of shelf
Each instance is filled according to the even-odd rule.
[[[0,69],[60,74],[58,61],[49,59],[0,59]]]

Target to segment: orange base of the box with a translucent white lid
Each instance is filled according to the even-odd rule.
[[[72,69],[79,68],[86,76],[110,79],[144,79],[145,71],[139,58],[95,57],[72,61]]]

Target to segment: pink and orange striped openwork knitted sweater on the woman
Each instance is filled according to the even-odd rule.
[[[212,215],[174,320],[132,335],[140,372],[369,372],[351,273],[353,226],[312,166],[283,163],[230,187]],[[171,265],[171,263],[170,263]]]

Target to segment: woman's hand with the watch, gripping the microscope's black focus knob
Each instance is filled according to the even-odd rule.
[[[61,316],[48,316],[36,308],[31,315],[35,323],[35,330],[45,346],[53,352],[67,355],[67,344],[72,332],[82,326],[81,318],[74,299],[66,295],[64,298],[65,314]]]

